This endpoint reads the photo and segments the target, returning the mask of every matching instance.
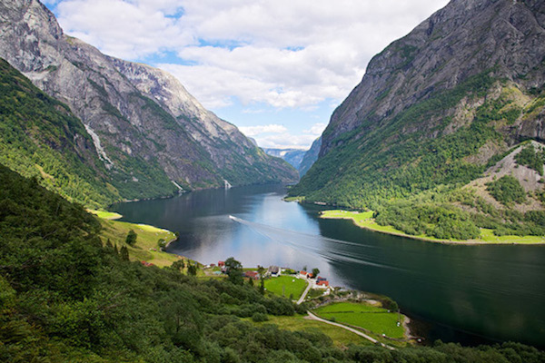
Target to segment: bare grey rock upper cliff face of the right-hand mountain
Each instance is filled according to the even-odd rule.
[[[383,127],[411,105],[485,71],[523,90],[541,87],[544,12],[540,0],[452,0],[372,58],[362,82],[332,114],[323,132],[321,155],[335,146],[342,133],[362,126]],[[532,126],[524,124],[520,129],[545,136],[542,127],[536,131]]]

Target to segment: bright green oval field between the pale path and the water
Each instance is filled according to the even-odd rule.
[[[350,324],[390,338],[404,338],[404,329],[397,326],[398,314],[371,305],[355,302],[337,302],[313,310],[324,319]]]

